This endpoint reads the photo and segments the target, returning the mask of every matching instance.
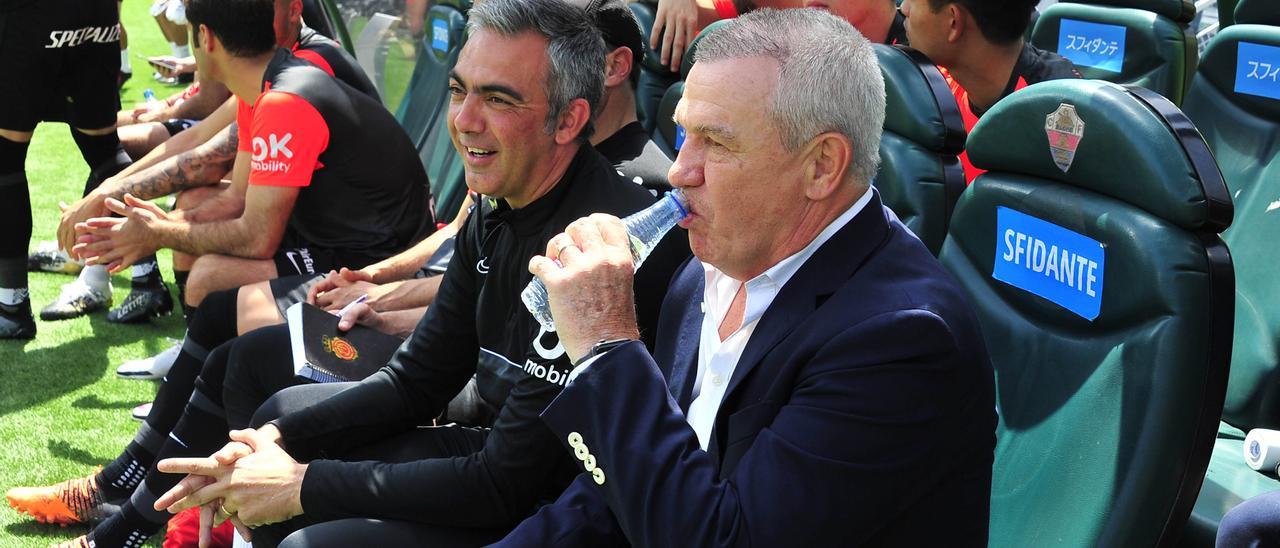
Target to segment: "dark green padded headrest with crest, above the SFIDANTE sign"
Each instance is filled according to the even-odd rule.
[[[1146,95],[1147,101],[1139,100],[1129,90],[1102,81],[1057,79],[1029,86],[1002,99],[978,120],[966,142],[969,160],[989,172],[1087,188],[1187,229],[1226,228],[1230,198],[1199,132],[1162,97],[1149,91]],[[1165,109],[1180,117],[1175,122],[1181,134],[1149,106],[1151,99],[1164,101]],[[1051,136],[1055,147],[1050,146]],[[1208,157],[1210,165],[1193,161],[1189,154]]]

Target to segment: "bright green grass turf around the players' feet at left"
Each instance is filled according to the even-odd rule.
[[[180,87],[151,79],[147,63],[137,55],[166,55],[155,20],[147,14],[151,3],[127,1],[122,18],[129,33],[133,78],[125,83],[125,106],[142,100],[145,88],[166,96]],[[65,124],[46,123],[36,129],[27,156],[27,174],[35,216],[35,242],[52,239],[58,225],[58,202],[79,197],[88,168],[79,157]],[[165,279],[172,280],[169,255],[160,255]],[[73,278],[32,273],[31,293],[36,307],[58,296],[59,287]],[[127,274],[114,279],[115,302],[128,293]],[[115,378],[115,366],[125,360],[154,355],[168,346],[165,337],[182,337],[180,315],[152,325],[115,325],[104,314],[77,320],[38,321],[35,341],[0,341],[0,488],[44,485],[82,476],[105,463],[133,437],[138,423],[128,411],[150,401],[155,384]],[[46,547],[68,540],[87,529],[41,525],[0,504],[0,547]],[[159,545],[159,542],[152,542]]]

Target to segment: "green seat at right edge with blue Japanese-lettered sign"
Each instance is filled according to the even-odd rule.
[[[1242,1],[1240,10],[1274,1]],[[1243,20],[1251,20],[1248,15]],[[1236,205],[1222,233],[1236,264],[1235,341],[1222,425],[1184,545],[1211,547],[1222,516],[1240,502],[1280,489],[1244,463],[1244,434],[1280,428],[1280,27],[1238,20],[1204,50],[1183,109],[1217,156]]]

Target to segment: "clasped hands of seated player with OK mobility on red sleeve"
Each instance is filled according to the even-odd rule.
[[[106,209],[119,218],[92,218],[76,223],[79,237],[72,254],[83,257],[87,265],[106,265],[113,274],[124,270],[138,259],[155,254],[155,228],[168,222],[169,214],[146,200],[124,195],[124,201],[106,198]]]

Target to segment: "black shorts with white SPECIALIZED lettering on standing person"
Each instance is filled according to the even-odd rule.
[[[0,6],[0,129],[29,132],[41,120],[81,129],[114,125],[119,19],[115,0]]]

